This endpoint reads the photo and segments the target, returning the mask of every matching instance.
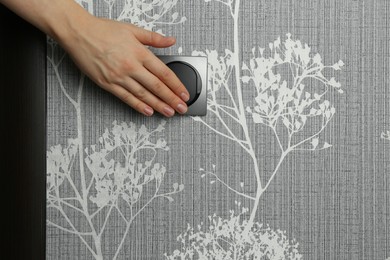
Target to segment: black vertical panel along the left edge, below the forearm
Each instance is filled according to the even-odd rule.
[[[45,259],[45,35],[0,5],[2,258]]]

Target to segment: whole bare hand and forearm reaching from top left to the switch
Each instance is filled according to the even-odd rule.
[[[145,46],[170,47],[175,38],[95,17],[73,0],[0,3],[55,39],[91,80],[138,112],[187,112],[188,91]]]

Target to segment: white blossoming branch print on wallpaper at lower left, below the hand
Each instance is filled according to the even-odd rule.
[[[47,220],[48,225],[77,235],[95,259],[103,259],[102,235],[109,218],[116,211],[123,220],[124,233],[117,245],[113,259],[120,253],[129,233],[133,220],[144,208],[157,198],[172,201],[171,195],[183,190],[182,184],[174,183],[169,192],[160,192],[166,169],[154,158],[159,150],[167,151],[164,139],[152,141],[154,135],[161,133],[165,122],[156,129],[138,128],[135,124],[117,124],[114,121],[111,130],[106,129],[97,145],[83,148],[80,138],[69,139],[68,145],[56,145],[47,152],[47,207],[58,210],[66,225]],[[155,139],[155,138],[154,138]],[[150,153],[151,158],[139,161],[139,153]],[[79,156],[82,153],[83,156]],[[77,158],[83,158],[83,163]],[[85,167],[81,166],[85,165]],[[79,166],[79,169],[75,169]],[[75,177],[75,172],[80,176]],[[78,181],[81,181],[78,183]],[[65,186],[71,192],[64,192]],[[80,187],[81,186],[81,187]],[[154,194],[143,197],[143,190],[153,188]],[[145,195],[146,196],[146,195]],[[105,219],[98,222],[98,218]],[[86,227],[76,226],[72,218],[83,218]],[[82,222],[85,223],[85,222]],[[92,238],[94,246],[87,237]]]

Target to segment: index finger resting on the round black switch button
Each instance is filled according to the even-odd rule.
[[[190,94],[188,93],[188,90],[183,85],[183,83],[179,80],[176,74],[159,58],[154,57],[153,59],[148,59],[144,61],[143,65],[184,102],[187,102],[190,99]]]

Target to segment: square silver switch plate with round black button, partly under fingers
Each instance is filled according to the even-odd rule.
[[[205,116],[207,114],[207,57],[162,55],[160,58],[183,82],[190,100],[185,115]]]

